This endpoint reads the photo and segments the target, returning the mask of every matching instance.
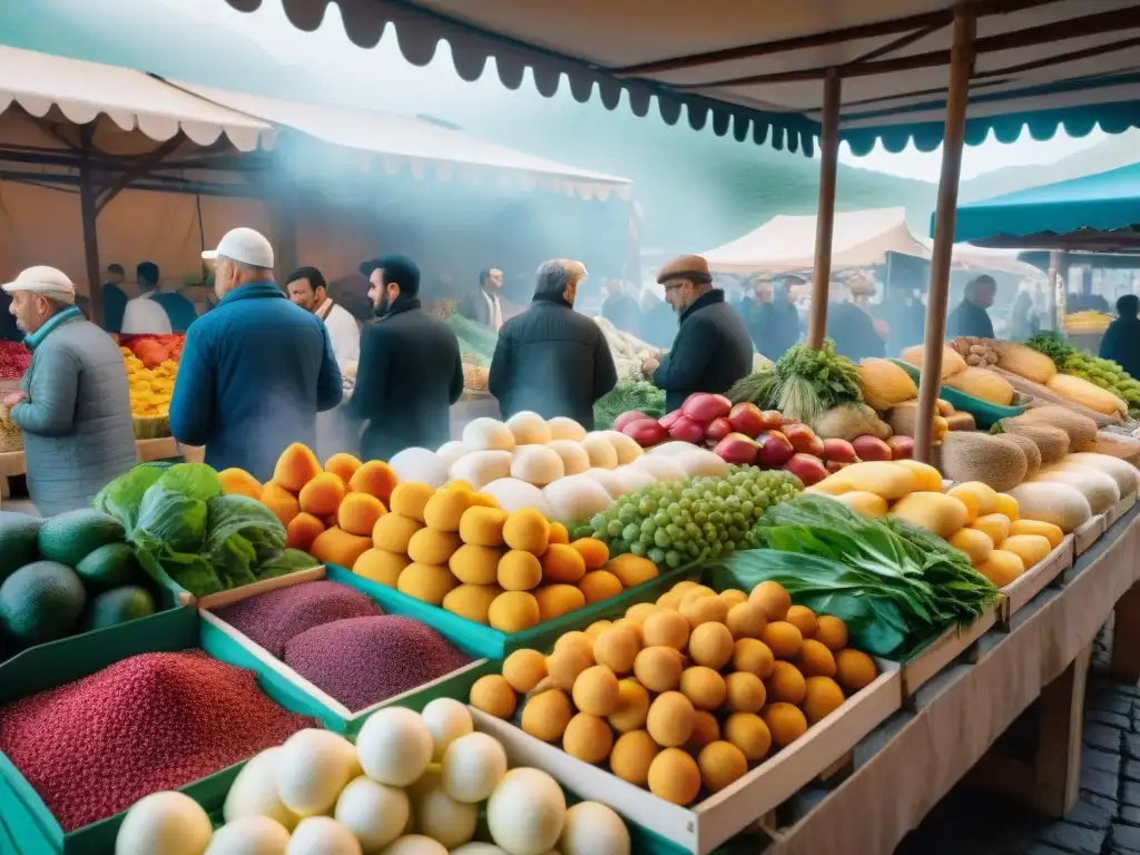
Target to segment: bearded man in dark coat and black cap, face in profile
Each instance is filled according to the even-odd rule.
[[[413,446],[450,439],[450,406],[463,394],[455,332],[420,306],[420,268],[404,255],[377,259],[369,277],[377,319],[360,336],[360,363],[349,414],[367,420],[366,461],[386,461]]]

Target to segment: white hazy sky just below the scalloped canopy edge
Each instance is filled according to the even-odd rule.
[[[360,49],[345,36],[335,3],[329,3],[329,11],[317,32],[304,33],[288,23],[278,0],[268,0],[259,11],[249,15],[217,0],[155,1],[177,7],[214,26],[239,32],[282,62],[328,80],[331,87],[343,85],[347,80],[353,81],[357,87],[366,87],[376,93],[375,106],[378,109],[430,113],[462,123],[464,112],[478,109],[480,103],[540,97],[529,80],[523,82],[528,92],[512,92],[504,88],[492,73],[494,60],[488,63],[482,79],[475,83],[464,82],[451,66],[446,43],[440,44],[435,58],[425,68],[406,63],[390,33],[385,33],[375,49]],[[980,146],[966,149],[962,180],[1003,166],[1054,163],[1094,146],[1104,138],[1100,130],[1083,139],[1059,132],[1045,142],[1029,139],[1026,132],[1012,145],[1002,145],[991,137]],[[844,146],[840,160],[852,166],[937,182],[942,157],[939,150],[923,154],[907,147],[899,154],[889,154],[880,146],[865,157],[854,157]]]

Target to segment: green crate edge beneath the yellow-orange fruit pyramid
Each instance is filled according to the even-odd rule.
[[[335,564],[328,565],[331,580],[351,585],[380,603],[385,612],[415,618],[448,638],[462,641],[471,649],[479,651],[479,656],[488,659],[503,659],[508,653],[522,648],[544,650],[563,633],[571,629],[585,629],[595,620],[601,620],[614,610],[625,611],[636,603],[657,600],[669,587],[685,578],[686,573],[692,572],[694,572],[693,569],[689,567],[667,570],[656,579],[627,588],[617,596],[567,612],[530,629],[524,629],[521,633],[502,633],[494,627],[467,620],[438,605],[416,600],[396,588],[365,579],[351,570]]]

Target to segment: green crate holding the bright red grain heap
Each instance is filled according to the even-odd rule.
[[[42,644],[0,665],[0,707],[30,694],[71,683],[140,653],[202,649],[197,612],[190,608],[160,612],[83,636]],[[317,717],[315,701],[302,693],[285,697],[261,679],[259,686],[282,707]],[[220,769],[181,788],[220,804],[238,766]],[[27,780],[0,754],[0,816],[18,855],[109,855],[125,813],[65,832]],[[0,837],[0,841],[2,841]],[[3,855],[8,849],[0,848]]]

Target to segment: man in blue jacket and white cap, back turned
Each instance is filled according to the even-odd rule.
[[[291,442],[316,447],[317,413],[341,402],[341,372],[325,325],[274,283],[264,237],[237,228],[202,258],[214,262],[220,302],[186,335],[171,432],[205,446],[215,470],[267,481]]]

